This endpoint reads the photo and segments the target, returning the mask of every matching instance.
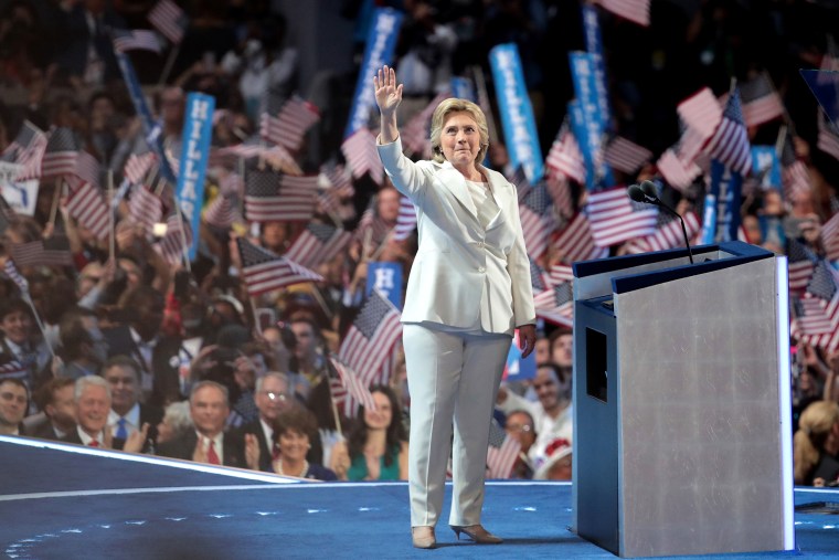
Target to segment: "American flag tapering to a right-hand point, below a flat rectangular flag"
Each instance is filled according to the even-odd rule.
[[[320,274],[254,245],[245,239],[237,237],[236,244],[242,260],[242,275],[247,286],[247,294],[252,297],[301,282],[323,279]]]

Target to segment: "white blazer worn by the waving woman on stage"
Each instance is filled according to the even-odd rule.
[[[479,166],[499,207],[485,229],[466,179],[452,163],[413,162],[402,154],[399,138],[378,149],[393,184],[416,207],[420,246],[402,321],[472,327],[487,292],[489,317],[481,317],[481,324],[490,332],[535,324],[516,187]]]

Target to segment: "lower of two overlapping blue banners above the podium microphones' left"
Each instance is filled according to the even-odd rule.
[[[597,189],[602,186],[609,187],[614,184],[612,170],[603,160],[601,145],[604,137],[605,123],[604,115],[601,114],[599,101],[597,98],[597,84],[595,78],[595,61],[590,53],[571,52],[569,53],[571,63],[571,77],[574,82],[574,92],[576,102],[583,116],[583,136],[577,137],[581,149],[583,145],[583,155],[592,158],[594,177],[586,176],[586,188],[588,190]],[[586,168],[588,163],[586,162]]]

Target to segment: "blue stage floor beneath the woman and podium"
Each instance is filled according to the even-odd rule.
[[[569,530],[569,484],[488,483],[484,522],[505,545],[457,542],[440,524],[439,549],[426,551],[411,547],[404,483],[195,466],[0,437],[0,558],[616,558]],[[795,499],[839,503],[839,492],[796,489]],[[716,558],[839,558],[838,516],[795,521],[797,551]]]

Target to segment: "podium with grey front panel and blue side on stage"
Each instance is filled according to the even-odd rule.
[[[792,550],[786,258],[574,263],[572,530],[622,557]]]

